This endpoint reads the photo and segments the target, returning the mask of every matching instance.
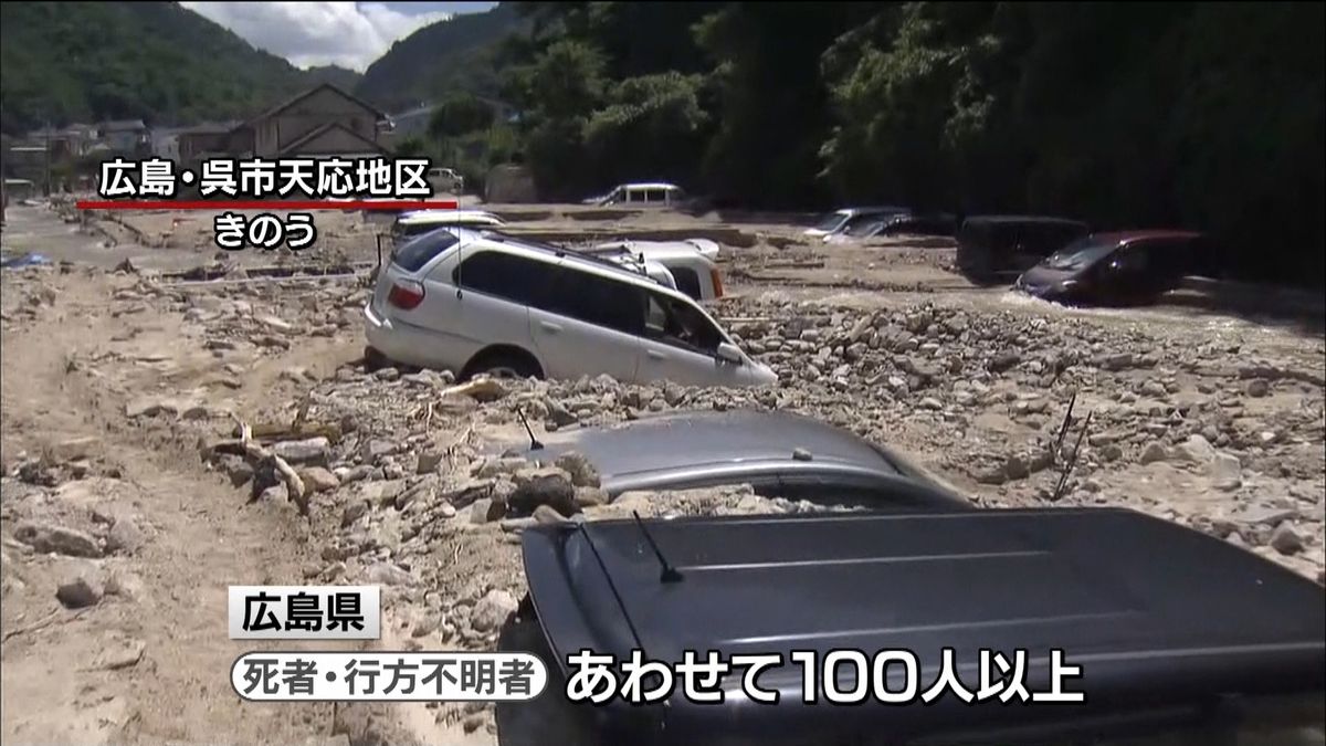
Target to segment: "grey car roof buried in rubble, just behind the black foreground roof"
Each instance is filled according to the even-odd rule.
[[[630,490],[751,485],[766,496],[831,492],[876,510],[972,510],[892,449],[785,411],[683,410],[558,430],[507,450],[541,461],[577,451],[594,465],[610,498]]]

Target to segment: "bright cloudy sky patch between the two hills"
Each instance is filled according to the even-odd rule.
[[[391,44],[453,13],[497,3],[180,3],[297,68],[363,72]]]

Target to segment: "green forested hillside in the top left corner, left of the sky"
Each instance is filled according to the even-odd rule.
[[[281,57],[176,3],[0,3],[0,65],[7,133],[243,117],[308,85]]]

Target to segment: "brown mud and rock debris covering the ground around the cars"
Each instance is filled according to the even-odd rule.
[[[0,279],[0,738],[495,743],[477,706],[241,702],[229,665],[264,644],[227,638],[225,587],[378,583],[381,646],[485,649],[522,593],[532,523],[821,510],[741,487],[601,504],[573,463],[560,466],[574,504],[530,510],[513,499],[529,465],[497,457],[521,438],[516,406],[544,435],[671,409],[801,411],[984,506],[1127,506],[1322,580],[1319,297],[1250,304],[1256,291],[1199,287],[1146,309],[1070,311],[972,287],[944,242],[810,246],[766,215],[496,210],[561,240],[720,240],[729,295],[715,313],[780,385],[452,393],[447,373],[362,365],[378,227],[361,215],[320,214],[317,251],[292,256],[219,251],[208,214],[11,206],[5,248],[65,263]],[[1074,396],[1078,426],[1059,443]],[[236,422],[285,430],[268,441],[298,467],[306,516],[288,486],[217,453]]]

